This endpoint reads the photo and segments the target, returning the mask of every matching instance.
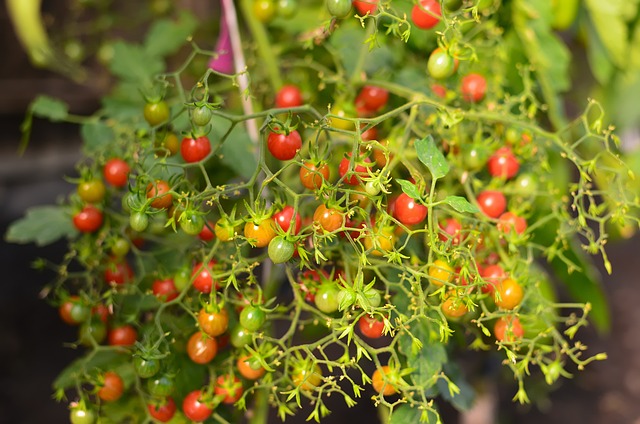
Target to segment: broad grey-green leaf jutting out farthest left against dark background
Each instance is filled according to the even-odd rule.
[[[10,243],[45,246],[77,234],[67,209],[48,205],[28,209],[23,218],[9,226],[5,239]]]

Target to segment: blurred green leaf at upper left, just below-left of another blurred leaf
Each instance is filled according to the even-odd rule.
[[[149,54],[143,47],[124,42],[113,45],[111,72],[125,81],[149,87],[155,75],[164,71],[160,58]]]

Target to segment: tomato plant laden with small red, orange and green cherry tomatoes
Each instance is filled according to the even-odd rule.
[[[592,6],[566,12],[587,38]],[[70,194],[7,239],[68,241],[42,293],[77,326],[55,382],[71,420],[320,421],[371,381],[391,422],[437,421],[435,398],[468,410],[485,378],[458,362],[502,363],[490,378],[525,403],[530,369],[555,382],[602,359],[577,335],[610,323],[585,255],[610,271],[640,187],[616,114],[587,101],[609,90],[565,107],[582,62],[558,7],[238,0],[200,28],[171,4],[113,48],[95,113],[36,99],[25,131],[78,124],[82,158]],[[122,373],[118,408],[92,390],[105,372]]]

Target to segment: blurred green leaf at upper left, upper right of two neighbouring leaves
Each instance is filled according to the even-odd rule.
[[[186,44],[187,38],[196,29],[197,21],[188,12],[180,14],[178,20],[162,19],[149,29],[144,40],[144,49],[150,56],[168,56]]]

